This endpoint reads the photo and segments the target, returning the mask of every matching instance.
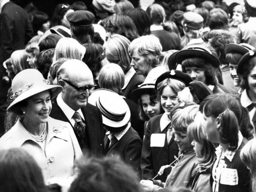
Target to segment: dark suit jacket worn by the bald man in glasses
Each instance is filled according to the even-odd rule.
[[[82,151],[85,152],[85,150],[88,148],[89,154],[100,157],[104,155],[105,134],[102,126],[102,116],[100,110],[89,103],[87,103],[85,107],[82,107],[81,110],[85,118],[86,134],[88,138],[85,147],[82,148]],[[67,116],[57,104],[56,99],[54,99],[52,102],[52,111],[50,116],[61,121],[69,122]]]

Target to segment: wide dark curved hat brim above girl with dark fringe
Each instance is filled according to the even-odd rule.
[[[210,61],[211,66],[213,66],[214,68],[219,67],[219,60],[216,57],[214,57],[210,53],[193,49],[186,49],[177,52],[177,54],[175,55],[175,61],[177,64],[182,64],[182,61],[191,57],[200,57],[206,59],[207,61]]]

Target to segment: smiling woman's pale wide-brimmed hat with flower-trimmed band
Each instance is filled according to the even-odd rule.
[[[51,90],[52,98],[54,98],[61,92],[62,87],[59,85],[50,85],[50,81],[44,79],[38,70],[25,69],[13,78],[11,89],[13,91],[13,95],[11,96],[13,101],[7,108],[7,111],[21,113],[21,109],[17,109],[17,103],[45,90]]]

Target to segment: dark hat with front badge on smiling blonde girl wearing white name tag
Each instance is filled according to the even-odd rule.
[[[185,83],[186,86],[189,86],[189,83],[192,81],[191,77],[179,70],[171,70],[171,71],[167,71],[163,74],[161,74],[157,79],[156,79],[156,85],[155,85],[155,89],[157,89],[157,85],[158,83],[160,83],[161,81],[163,81],[164,79],[167,78],[171,78],[171,79],[177,79],[179,81],[182,81],[183,83]]]

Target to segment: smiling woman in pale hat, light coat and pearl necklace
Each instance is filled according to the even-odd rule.
[[[53,177],[72,176],[74,160],[82,155],[72,127],[49,117],[51,98],[62,90],[61,86],[49,84],[35,69],[22,70],[13,78],[13,101],[7,111],[21,117],[0,138],[0,149],[27,150],[41,167],[46,184]]]

